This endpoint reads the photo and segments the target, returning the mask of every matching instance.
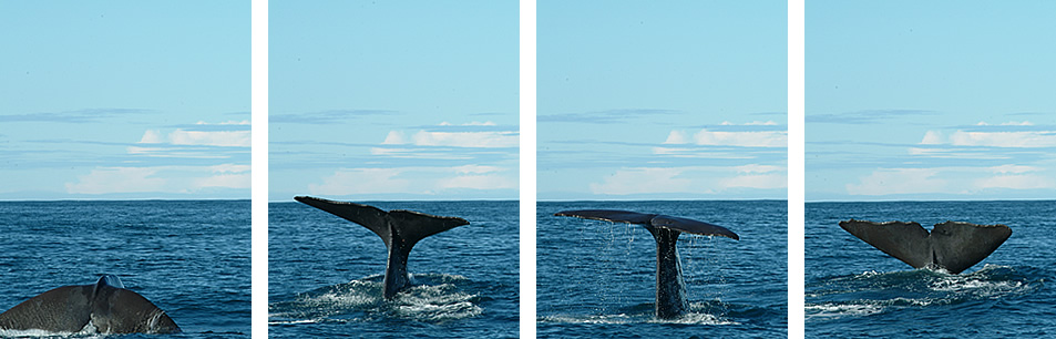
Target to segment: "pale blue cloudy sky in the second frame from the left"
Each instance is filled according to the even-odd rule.
[[[516,1],[270,1],[268,199],[516,199]]]

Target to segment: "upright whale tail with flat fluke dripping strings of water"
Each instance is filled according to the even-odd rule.
[[[655,315],[659,319],[675,319],[689,309],[689,301],[686,299],[686,281],[683,279],[678,248],[675,246],[679,235],[689,233],[740,239],[736,233],[722,226],[662,214],[617,209],[577,209],[562,210],[554,215],[645,226],[656,240]]]

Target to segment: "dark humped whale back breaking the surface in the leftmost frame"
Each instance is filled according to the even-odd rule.
[[[176,333],[164,310],[121,279],[105,275],[93,285],[62,286],[0,314],[0,328],[69,333]]]

